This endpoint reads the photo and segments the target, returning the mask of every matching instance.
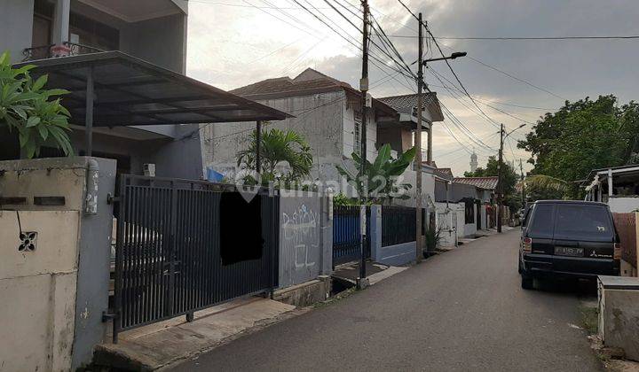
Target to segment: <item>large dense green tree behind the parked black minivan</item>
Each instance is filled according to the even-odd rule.
[[[579,197],[574,181],[592,169],[639,162],[639,104],[619,106],[617,97],[589,97],[565,102],[546,113],[517,147],[531,152],[531,174],[569,182],[567,196]]]

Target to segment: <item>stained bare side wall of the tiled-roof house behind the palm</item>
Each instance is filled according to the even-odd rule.
[[[312,148],[311,180],[335,181],[340,179],[335,164],[340,164],[343,159],[345,99],[344,92],[337,91],[257,102],[296,116],[287,120],[272,121],[264,126],[264,130],[290,129],[304,136]],[[217,172],[233,178],[237,170],[237,152],[248,147],[251,133],[255,128],[254,121],[215,123],[204,126],[201,130],[203,166],[213,167]],[[350,154],[349,152],[349,156]]]

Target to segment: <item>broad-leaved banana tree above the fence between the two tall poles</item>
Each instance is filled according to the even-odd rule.
[[[335,166],[337,172],[346,178],[359,195],[366,196],[366,202],[382,204],[392,198],[409,198],[406,190],[412,188],[409,183],[398,183],[398,177],[406,171],[414,159],[415,147],[404,153],[398,154],[397,159],[390,155],[390,144],[384,144],[377,152],[377,158],[371,163],[366,161],[364,169],[361,167],[361,157],[353,152],[351,157],[355,163],[357,173],[351,172],[346,167]]]

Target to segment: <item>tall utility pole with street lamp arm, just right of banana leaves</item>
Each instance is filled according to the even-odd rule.
[[[423,35],[422,35],[422,13],[419,13],[419,46],[418,50],[418,69],[417,69],[417,130],[415,131],[415,146],[417,146],[417,151],[415,152],[415,166],[416,166],[416,182],[415,182],[415,216],[416,221],[416,236],[415,236],[415,261],[419,262],[422,260],[422,111],[423,111],[423,102],[422,102],[422,79],[423,79],[423,63],[422,63],[422,55],[423,55]],[[430,143],[430,137],[429,137]],[[430,151],[430,147],[429,147]],[[429,159],[430,160],[430,159]],[[430,164],[430,163],[429,163]]]

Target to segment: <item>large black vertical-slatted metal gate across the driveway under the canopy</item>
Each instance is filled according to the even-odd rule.
[[[194,311],[277,285],[279,197],[257,194],[259,255],[229,263],[224,249],[247,248],[220,246],[220,201],[231,192],[217,183],[122,175],[114,342],[120,330],[183,314],[192,319]]]

